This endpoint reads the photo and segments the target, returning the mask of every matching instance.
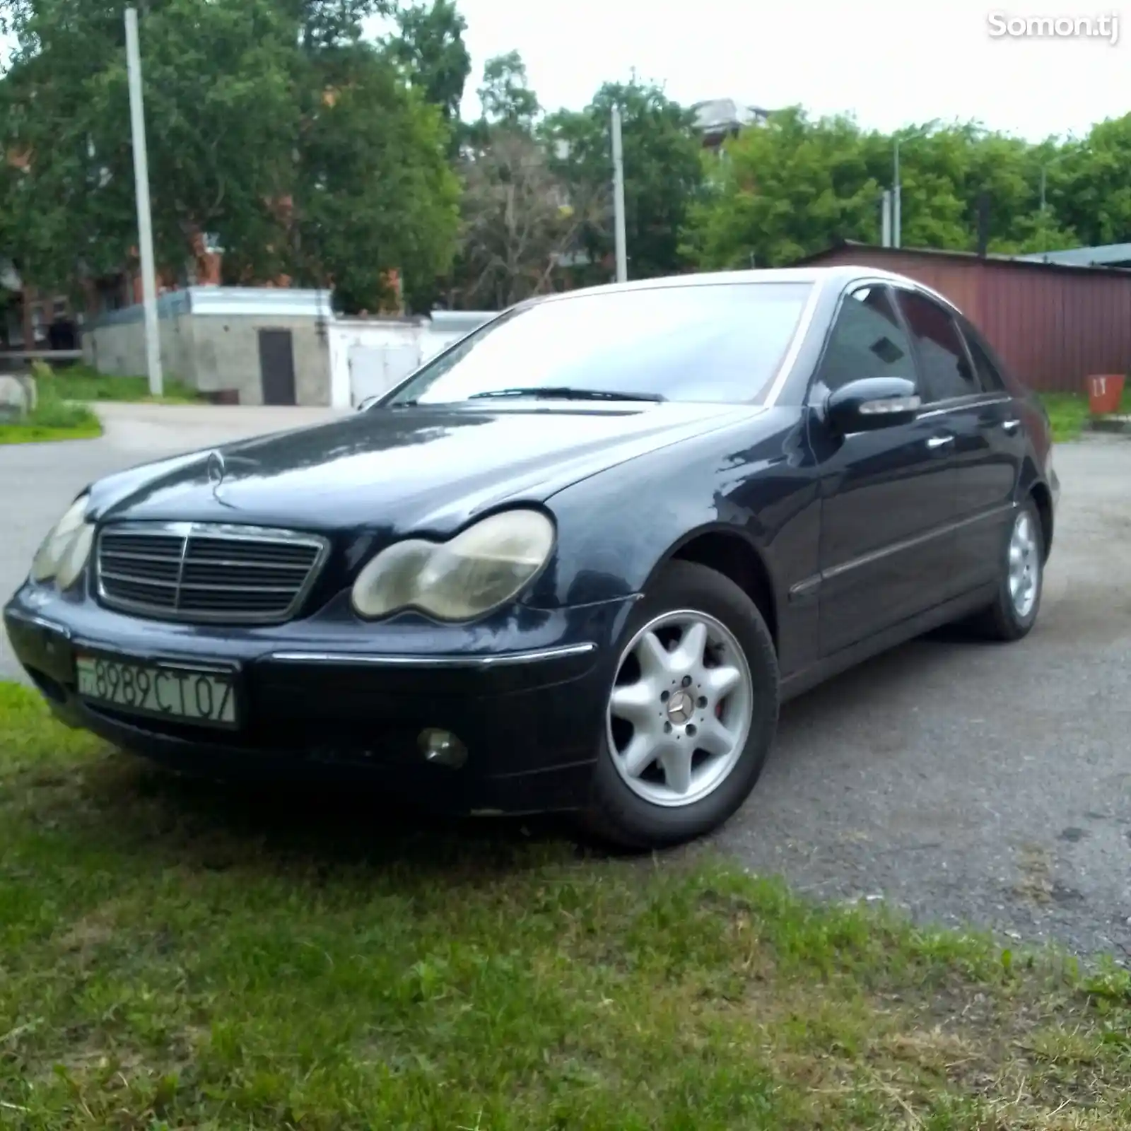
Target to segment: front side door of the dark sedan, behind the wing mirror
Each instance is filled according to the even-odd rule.
[[[834,655],[942,601],[953,568],[953,434],[930,411],[909,424],[838,437],[829,392],[871,377],[920,383],[887,285],[841,301],[809,394],[821,482],[821,651]]]

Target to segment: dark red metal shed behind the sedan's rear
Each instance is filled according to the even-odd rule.
[[[802,264],[879,267],[932,287],[1033,389],[1082,392],[1089,374],[1131,373],[1131,270],[851,241]]]

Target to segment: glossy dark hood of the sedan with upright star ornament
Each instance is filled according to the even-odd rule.
[[[759,412],[672,403],[375,408],[111,476],[92,490],[92,517],[442,535],[490,507],[545,500]]]

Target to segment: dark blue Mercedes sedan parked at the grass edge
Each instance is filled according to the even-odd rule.
[[[64,722],[215,777],[726,820],[778,706],[949,621],[1037,618],[1039,403],[864,268],[506,311],[371,407],[92,484],[5,608]]]

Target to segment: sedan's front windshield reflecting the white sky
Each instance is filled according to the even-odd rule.
[[[504,391],[758,402],[793,340],[809,283],[606,291],[511,310],[425,365],[387,402]]]

